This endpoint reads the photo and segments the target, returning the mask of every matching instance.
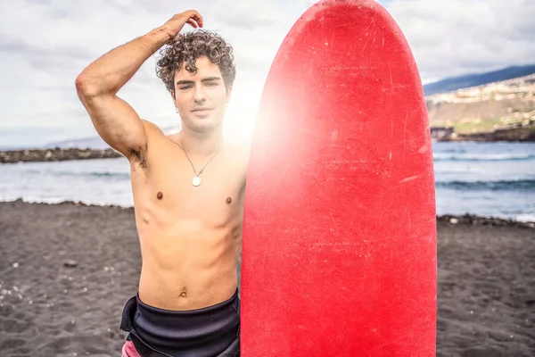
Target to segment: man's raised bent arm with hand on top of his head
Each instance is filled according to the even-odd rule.
[[[174,15],[161,27],[103,54],[75,81],[78,98],[98,134],[130,162],[144,157],[147,137],[136,111],[117,92],[152,54],[174,40],[186,23],[202,27],[202,17],[194,10]]]

